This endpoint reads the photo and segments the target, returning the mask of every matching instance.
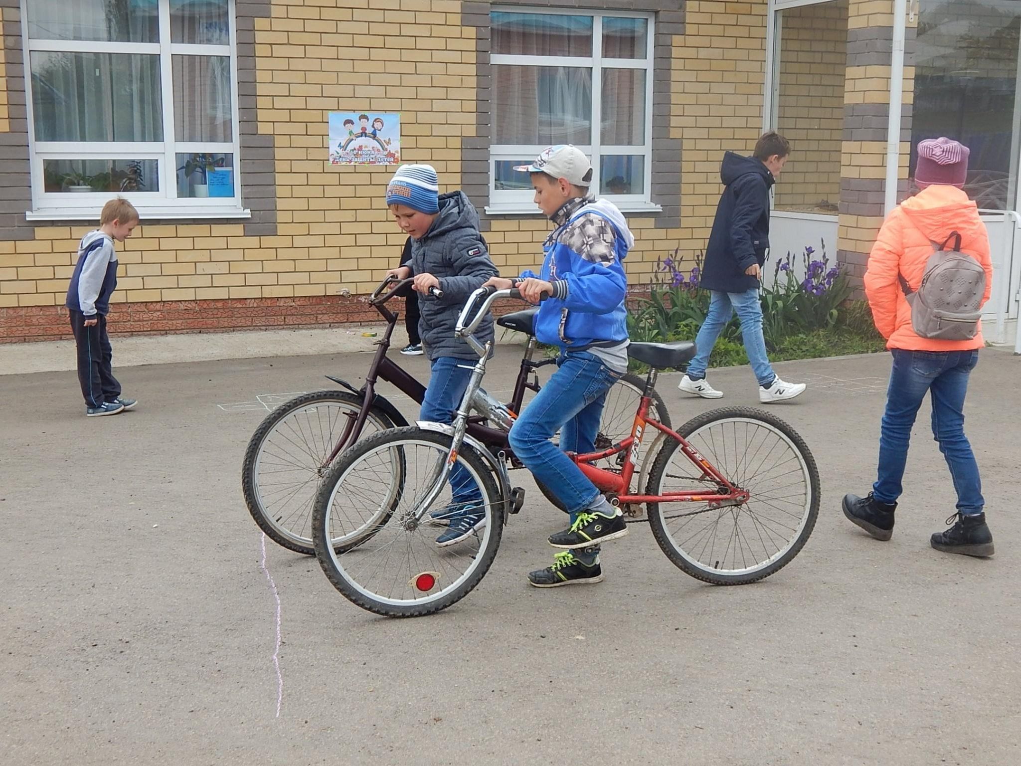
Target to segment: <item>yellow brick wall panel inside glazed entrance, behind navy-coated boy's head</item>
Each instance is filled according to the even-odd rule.
[[[778,210],[834,213],[840,199],[847,0],[780,13],[777,131],[793,151],[777,184]]]

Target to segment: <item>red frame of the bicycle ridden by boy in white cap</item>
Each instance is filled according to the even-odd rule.
[[[688,441],[673,429],[648,417],[648,409],[651,398],[648,396],[648,389],[655,383],[655,370],[649,372],[645,381],[645,392],[638,404],[638,412],[635,414],[634,424],[631,426],[631,435],[623,441],[614,444],[609,449],[587,454],[569,453],[582,473],[595,484],[596,488],[603,492],[611,492],[616,495],[616,500],[620,505],[641,504],[641,502],[719,502],[736,504],[744,502],[749,494],[745,489],[735,487],[726,477],[707,461]],[[696,468],[701,471],[701,476],[697,481],[712,481],[717,486],[716,492],[704,492],[699,490],[684,490],[678,492],[667,492],[662,495],[651,494],[629,494],[631,480],[635,473],[635,461],[638,457],[638,449],[641,446],[642,438],[647,433],[646,427],[651,426],[668,438],[674,439],[680,445],[681,451],[691,461]],[[625,453],[624,465],[620,473],[606,471],[601,468],[589,465],[595,461],[612,458],[615,454]]]

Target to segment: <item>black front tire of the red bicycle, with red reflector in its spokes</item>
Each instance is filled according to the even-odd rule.
[[[421,600],[381,597],[379,594],[370,592],[368,586],[356,582],[343,566],[346,561],[345,557],[350,557],[356,553],[364,553],[368,540],[372,539],[386,524],[390,523],[393,514],[403,499],[405,491],[403,484],[398,487],[397,492],[388,495],[388,498],[384,500],[385,504],[388,504],[388,507],[384,508],[382,512],[382,515],[386,517],[386,521],[373,530],[371,534],[366,535],[364,539],[344,550],[337,550],[334,546],[327,544],[331,533],[330,516],[334,498],[343,489],[345,479],[352,475],[359,462],[364,461],[368,463],[375,454],[384,450],[395,449],[400,450],[400,460],[403,466],[406,460],[406,450],[411,446],[417,444],[431,445],[439,453],[439,450],[445,451],[449,449],[451,438],[446,434],[427,431],[416,426],[395,428],[368,436],[346,449],[321,483],[312,512],[312,538],[314,540],[315,556],[327,579],[352,604],[385,617],[422,617],[435,614],[451,607],[468,595],[479,584],[492,565],[503,531],[503,498],[499,495],[496,480],[492,475],[491,469],[469,444],[460,446],[456,460],[470,470],[478,483],[487,519],[478,553],[470,557],[471,564],[468,565],[468,571],[460,575],[459,578],[456,578],[449,588],[444,588],[438,591],[436,595],[427,595]],[[381,473],[375,467],[369,470],[374,476],[379,476]],[[402,468],[403,476],[406,476],[408,473],[410,473],[409,470],[405,471]],[[399,481],[402,483],[403,477]],[[355,494],[357,496],[374,496],[371,494]],[[347,496],[351,496],[350,491]],[[390,499],[390,497],[393,497],[393,499]],[[397,528],[392,527],[392,529]],[[430,527],[424,522],[420,522],[411,529],[405,528],[403,531],[409,536],[420,529],[435,532],[435,527]],[[397,534],[400,534],[400,530],[397,530]],[[405,541],[409,537],[405,538]],[[383,543],[379,550],[390,544],[392,543]],[[408,542],[408,545],[410,544]],[[396,545],[395,549],[399,550],[399,545]],[[410,547],[408,547],[408,550],[410,550]],[[388,552],[388,556],[391,554],[392,552]],[[398,561],[401,561],[400,555],[398,554],[397,556]],[[420,564],[417,556],[409,556],[403,561],[406,561],[409,566],[412,561],[414,566],[423,566]],[[374,575],[378,569],[379,567],[373,570]],[[389,573],[386,574],[385,579],[390,579]],[[403,581],[399,575],[395,575],[393,577],[393,584],[396,585],[398,582]],[[407,584],[410,585],[411,583],[408,582]]]

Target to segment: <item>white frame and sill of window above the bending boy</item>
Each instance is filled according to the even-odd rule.
[[[46,159],[155,159],[158,192],[123,192],[143,218],[220,219],[250,218],[241,205],[241,142],[238,116],[238,49],[235,0],[227,0],[229,45],[196,45],[171,42],[171,2],[158,0],[158,43],[111,43],[81,40],[35,40],[29,37],[28,3],[21,0],[21,40],[25,46],[25,90],[29,122],[29,156],[32,171],[32,210],[29,221],[78,221],[98,217],[114,192],[47,192],[43,174]],[[85,53],[144,53],[159,55],[163,140],[151,142],[37,141],[32,97],[34,51]],[[174,69],[172,56],[228,56],[231,62],[231,135],[228,142],[177,142],[174,126]],[[178,197],[178,153],[232,154],[233,197]]]

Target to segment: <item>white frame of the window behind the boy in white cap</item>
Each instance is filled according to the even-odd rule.
[[[592,162],[592,189],[597,196],[615,202],[623,210],[657,211],[662,207],[652,202],[652,85],[655,49],[655,15],[626,10],[595,10],[588,8],[557,9],[521,6],[493,6],[491,13],[535,13],[539,15],[590,16],[592,18],[591,56],[531,56],[493,53],[489,56],[491,66],[515,64],[525,66],[571,66],[592,70],[592,143],[579,146]],[[602,19],[643,18],[648,23],[645,41],[645,58],[603,58]],[[645,71],[645,145],[609,146],[602,145],[602,70],[643,69]],[[491,112],[490,112],[491,113]],[[517,191],[496,188],[496,162],[507,159],[532,159],[546,145],[492,144],[489,147],[489,205],[486,212],[491,216],[514,216],[536,211],[532,191]],[[598,194],[602,154],[627,154],[643,156],[644,188],[640,194]]]

